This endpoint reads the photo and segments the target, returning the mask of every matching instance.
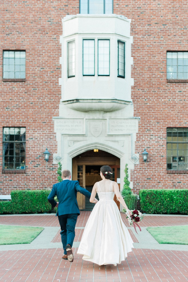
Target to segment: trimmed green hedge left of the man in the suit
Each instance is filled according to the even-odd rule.
[[[16,190],[11,192],[11,201],[0,202],[0,214],[50,213],[48,190]]]

